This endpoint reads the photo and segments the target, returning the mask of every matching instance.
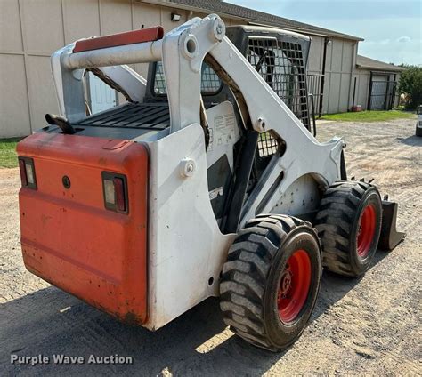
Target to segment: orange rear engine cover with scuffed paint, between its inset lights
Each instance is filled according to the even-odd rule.
[[[37,179],[37,189],[22,187],[19,194],[27,269],[122,321],[143,324],[146,148],[127,140],[40,132],[20,141],[17,151],[33,159]],[[128,213],[105,208],[102,172],[126,176]]]

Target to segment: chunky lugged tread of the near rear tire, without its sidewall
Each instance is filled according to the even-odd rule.
[[[265,280],[288,233],[310,223],[287,215],[256,216],[240,230],[223,265],[220,306],[231,330],[256,347],[276,350],[264,325]],[[249,272],[246,272],[248,266]]]

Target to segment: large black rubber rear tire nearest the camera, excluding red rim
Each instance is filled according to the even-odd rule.
[[[296,250],[311,261],[311,283],[304,306],[288,324],[279,317],[277,294],[286,262]],[[285,215],[248,221],[223,265],[220,308],[226,325],[245,341],[280,351],[303,333],[321,284],[321,244],[309,222]]]

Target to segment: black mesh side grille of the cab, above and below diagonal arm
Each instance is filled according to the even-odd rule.
[[[302,46],[272,37],[249,38],[247,58],[288,108],[309,127]],[[265,133],[258,142],[258,151],[259,156],[273,155],[277,151],[277,141]]]

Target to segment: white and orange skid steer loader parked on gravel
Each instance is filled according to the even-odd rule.
[[[322,267],[360,276],[403,237],[397,205],[346,180],[345,142],[312,135],[309,45],[209,15],[54,52],[61,114],[17,148],[27,269],[150,330],[220,296],[234,333],[288,347]],[[87,72],[126,103],[90,115]]]

